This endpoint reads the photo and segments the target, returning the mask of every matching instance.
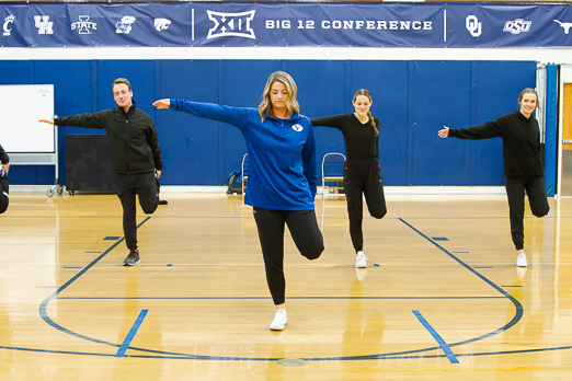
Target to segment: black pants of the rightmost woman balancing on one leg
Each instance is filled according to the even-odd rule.
[[[536,217],[545,217],[550,210],[546,195],[545,177],[508,178],[506,177],[506,196],[511,216],[511,234],[516,250],[524,249],[524,210],[525,190],[528,195],[530,210]]]

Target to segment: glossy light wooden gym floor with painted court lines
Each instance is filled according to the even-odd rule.
[[[569,380],[572,199],[527,210],[516,267],[504,195],[388,196],[353,266],[345,200],[316,200],[325,251],[286,238],[288,325],[271,332],[252,209],[163,194],[127,255],[114,195],[11,195],[0,216],[2,380]],[[367,216],[367,213],[366,213]]]

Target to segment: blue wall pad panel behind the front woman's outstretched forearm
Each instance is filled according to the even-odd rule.
[[[159,97],[219,103],[220,61],[161,61]],[[151,114],[153,115],[153,114]],[[160,126],[164,185],[222,184],[219,171],[220,127],[218,122],[201,119],[170,109],[155,112]],[[159,127],[158,127],[159,128]],[[240,137],[243,145],[243,138]],[[245,148],[239,148],[245,151]]]

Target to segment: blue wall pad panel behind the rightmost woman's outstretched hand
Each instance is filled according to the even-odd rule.
[[[439,139],[437,130],[470,125],[470,62],[415,61],[410,65],[410,76],[413,109],[408,185],[469,185],[470,142]]]

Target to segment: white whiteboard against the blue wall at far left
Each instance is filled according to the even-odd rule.
[[[8,153],[56,153],[53,84],[0,85],[0,145]]]

